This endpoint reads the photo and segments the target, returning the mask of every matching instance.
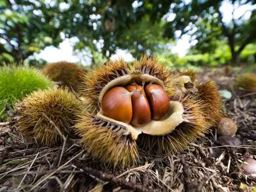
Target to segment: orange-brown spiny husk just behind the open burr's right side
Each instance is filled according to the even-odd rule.
[[[213,80],[197,84],[198,99],[203,101],[205,119],[210,126],[216,126],[222,117],[222,99],[217,84]]]

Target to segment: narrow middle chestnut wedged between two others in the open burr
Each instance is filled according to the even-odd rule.
[[[151,109],[143,87],[139,85],[130,85],[125,88],[130,92],[134,92],[132,95],[133,117],[130,124],[133,126],[141,126],[150,122]]]

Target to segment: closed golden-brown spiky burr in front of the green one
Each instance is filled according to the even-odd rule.
[[[62,137],[55,125],[62,135],[74,137],[71,127],[76,122],[80,106],[80,101],[67,89],[38,90],[24,98],[16,108],[20,116],[17,127],[32,142],[56,145]]]

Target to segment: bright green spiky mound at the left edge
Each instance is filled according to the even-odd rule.
[[[0,118],[6,118],[5,106],[14,103],[37,89],[52,87],[53,82],[37,69],[22,66],[0,67]]]

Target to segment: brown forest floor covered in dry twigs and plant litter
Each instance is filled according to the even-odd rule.
[[[1,123],[0,191],[256,191],[256,177],[241,169],[246,158],[256,158],[256,94],[232,89],[235,75],[205,68],[197,79],[214,79],[232,93],[223,99],[224,114],[237,123],[242,145],[221,143],[211,132],[172,156],[140,151],[137,165],[114,169],[92,161],[78,140],[38,147],[15,125]]]

